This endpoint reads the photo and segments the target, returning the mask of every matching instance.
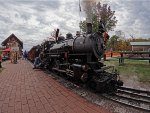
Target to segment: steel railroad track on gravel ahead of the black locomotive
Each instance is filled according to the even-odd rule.
[[[102,96],[120,104],[150,112],[150,91],[119,87],[116,94]]]

